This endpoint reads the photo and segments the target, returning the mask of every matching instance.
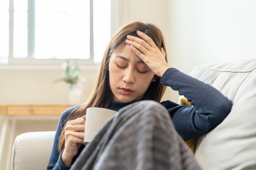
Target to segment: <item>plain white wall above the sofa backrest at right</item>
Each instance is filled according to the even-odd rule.
[[[193,66],[256,57],[256,1],[172,0],[169,4],[171,65]]]

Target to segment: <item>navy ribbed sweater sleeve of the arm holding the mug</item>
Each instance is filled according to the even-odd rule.
[[[71,111],[74,110],[77,106],[79,105],[73,106],[65,110],[60,116],[60,120],[56,129],[56,134],[53,141],[52,152],[51,152],[49,164],[47,166],[47,170],[69,170],[70,169],[70,167],[63,164],[61,159],[63,150],[61,151],[61,153],[59,153],[58,145],[59,145],[59,137],[60,137],[62,128],[66,125],[66,118],[71,113]]]

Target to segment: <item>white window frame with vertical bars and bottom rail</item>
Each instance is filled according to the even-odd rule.
[[[99,66],[99,62],[94,62],[93,52],[93,0],[90,0],[90,58],[89,59],[36,59],[33,58],[35,51],[35,0],[28,0],[28,55],[26,58],[14,58],[13,56],[13,18],[14,0],[9,0],[9,55],[8,63],[0,65],[60,65],[66,60],[77,60],[80,65]]]

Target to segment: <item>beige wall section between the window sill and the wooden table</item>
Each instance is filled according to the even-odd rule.
[[[86,78],[82,83],[84,98],[90,94],[97,68],[81,70]],[[68,104],[70,85],[65,82],[52,84],[63,73],[61,68],[0,69],[0,104]]]

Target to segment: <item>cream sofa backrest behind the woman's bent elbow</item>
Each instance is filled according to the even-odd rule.
[[[233,101],[226,119],[197,139],[199,165],[205,170],[256,169],[256,59],[204,64],[189,75]]]

